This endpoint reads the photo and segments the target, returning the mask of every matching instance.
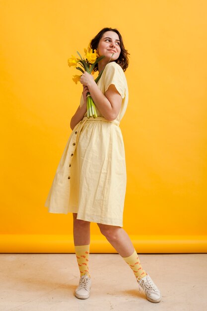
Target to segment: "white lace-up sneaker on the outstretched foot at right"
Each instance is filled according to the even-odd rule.
[[[161,293],[158,287],[154,284],[150,276],[145,275],[143,278],[137,277],[138,285],[139,285],[139,292],[140,287],[144,290],[146,294],[146,299],[151,303],[159,303],[161,300]]]

